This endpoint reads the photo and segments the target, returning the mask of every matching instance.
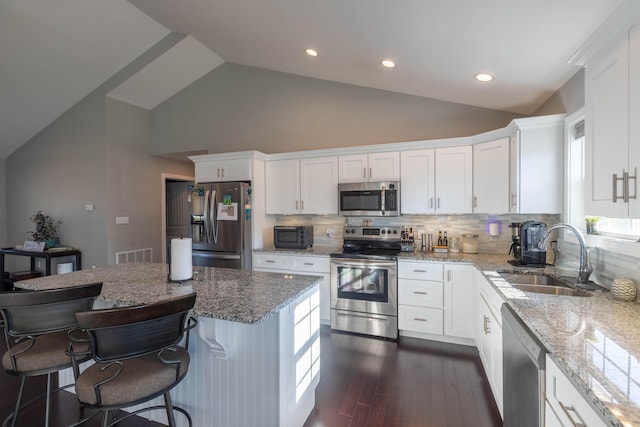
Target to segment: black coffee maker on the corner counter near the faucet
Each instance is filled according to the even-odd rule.
[[[512,222],[511,247],[509,254],[513,259],[512,265],[528,265],[531,267],[544,267],[547,262],[547,251],[538,249],[538,243],[547,231],[547,224],[537,221]]]

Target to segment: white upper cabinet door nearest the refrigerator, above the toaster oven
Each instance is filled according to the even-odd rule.
[[[266,165],[267,214],[300,213],[300,160],[275,160]]]

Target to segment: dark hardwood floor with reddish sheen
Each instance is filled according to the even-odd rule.
[[[473,347],[411,338],[402,338],[396,343],[331,333],[324,326],[321,345],[321,381],[316,390],[316,408],[305,427],[502,425],[478,352]],[[1,422],[13,410],[19,379],[0,371]],[[27,382],[30,396],[44,389],[44,379],[32,378]],[[67,426],[82,417],[75,395],[56,394],[52,427]],[[44,402],[25,409],[18,425],[44,425]],[[99,419],[86,425],[98,426]],[[134,417],[118,425],[159,424]]]

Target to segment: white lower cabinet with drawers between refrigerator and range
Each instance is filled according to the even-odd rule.
[[[322,277],[320,283],[320,322],[323,324],[331,323],[329,278],[331,266],[328,256],[254,253],[252,261],[253,271]]]

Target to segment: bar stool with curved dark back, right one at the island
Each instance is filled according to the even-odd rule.
[[[89,334],[96,362],[78,377],[76,393],[82,405],[102,412],[102,426],[152,409],[165,409],[170,426],[175,426],[174,410],[184,414],[192,425],[191,416],[173,406],[169,392],[189,368],[189,352],[179,343],[185,331],[195,326],[189,321],[195,300],[196,294],[189,294],[155,304],[76,314],[78,325]],[[112,411],[158,396],[164,396],[164,406],[139,409],[110,420]]]

